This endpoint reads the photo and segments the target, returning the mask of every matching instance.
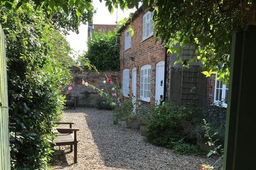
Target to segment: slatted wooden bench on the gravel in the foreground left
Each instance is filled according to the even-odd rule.
[[[72,128],[73,122],[54,122],[56,125],[69,125],[69,128],[59,128],[56,130],[59,132],[57,138],[54,140],[55,146],[66,146],[70,145],[70,151],[73,151],[74,146],[74,164],[77,163],[77,135],[76,132],[79,129]]]

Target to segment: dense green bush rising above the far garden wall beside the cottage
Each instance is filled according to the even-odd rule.
[[[112,32],[94,32],[87,45],[88,51],[81,58],[82,61],[90,60],[98,70],[119,70],[119,37],[116,42],[116,35]]]

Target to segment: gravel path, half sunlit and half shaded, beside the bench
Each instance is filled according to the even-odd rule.
[[[94,108],[65,110],[62,121],[74,122],[78,132],[78,163],[69,146],[57,149],[54,169],[199,169],[212,160],[173,153],[148,143],[140,131],[113,125],[111,111]],[[64,153],[65,151],[65,153]]]

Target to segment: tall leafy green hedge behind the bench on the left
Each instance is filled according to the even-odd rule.
[[[1,8],[0,21],[8,58],[9,121],[16,123],[17,140],[10,144],[14,169],[47,169],[54,137],[49,122],[58,121],[63,107],[62,87],[70,79],[70,48],[40,11]],[[52,37],[54,36],[54,37]],[[67,44],[66,44],[67,45]],[[12,132],[11,132],[12,133]]]

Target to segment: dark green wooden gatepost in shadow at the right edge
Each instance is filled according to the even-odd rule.
[[[223,168],[255,169],[256,160],[256,26],[232,39]]]

